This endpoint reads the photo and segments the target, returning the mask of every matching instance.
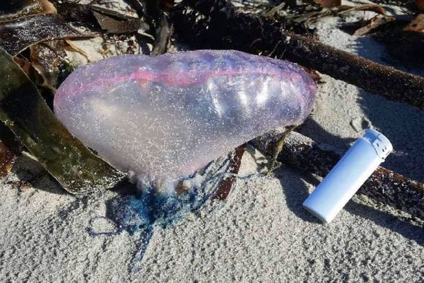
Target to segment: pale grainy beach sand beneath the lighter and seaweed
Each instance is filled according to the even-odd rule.
[[[321,24],[322,41],[350,52],[368,50],[379,59],[382,47],[376,42],[329,30],[333,23]],[[394,143],[386,166],[424,180],[424,112],[323,78],[326,84],[302,132],[346,149],[372,125]],[[408,215],[357,196],[324,226],[302,209],[319,179],[287,167],[271,177],[242,178],[256,168],[249,151],[228,200],[207,203],[171,228],[155,229],[137,261],[141,233],[88,233],[114,231],[112,221],[90,219],[105,216],[107,200],[117,192],[76,198],[44,174],[25,185],[20,180],[41,169],[20,158],[18,174],[1,180],[0,282],[424,281],[423,228]]]

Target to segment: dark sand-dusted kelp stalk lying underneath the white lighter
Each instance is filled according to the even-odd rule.
[[[260,151],[271,156],[273,144],[281,133],[267,135],[266,143],[261,139],[252,141]],[[307,173],[324,177],[343,156],[343,152],[327,144],[319,143],[298,132],[286,139],[278,161]],[[379,167],[358,191],[372,200],[400,209],[414,219],[424,221],[424,184],[411,180],[399,173]]]

